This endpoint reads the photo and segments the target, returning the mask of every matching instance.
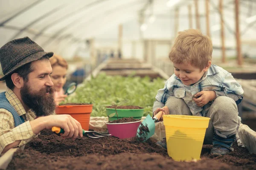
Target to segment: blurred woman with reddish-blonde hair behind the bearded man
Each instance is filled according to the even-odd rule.
[[[58,55],[53,55],[50,59],[52,66],[51,80],[55,90],[55,103],[63,102],[67,95],[64,94],[63,86],[67,82],[67,61]]]

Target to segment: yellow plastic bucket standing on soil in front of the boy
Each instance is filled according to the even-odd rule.
[[[199,160],[210,118],[163,115],[167,152],[175,161]]]

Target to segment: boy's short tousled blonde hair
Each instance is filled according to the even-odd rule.
[[[212,40],[198,29],[180,31],[169,58],[174,63],[189,63],[203,70],[212,60]]]

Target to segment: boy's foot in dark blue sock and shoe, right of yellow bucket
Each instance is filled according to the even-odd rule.
[[[220,136],[214,133],[214,137],[212,139],[213,148],[211,150],[211,154],[213,156],[221,156],[233,151],[232,147],[233,142],[236,141],[236,135],[230,136],[228,138],[221,138]]]

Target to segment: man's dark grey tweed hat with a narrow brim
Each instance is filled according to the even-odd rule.
[[[12,74],[21,66],[46,55],[52,57],[53,52],[45,52],[43,48],[30,40],[29,37],[7,42],[0,48],[0,62],[4,74],[0,81],[3,81],[9,74]]]

